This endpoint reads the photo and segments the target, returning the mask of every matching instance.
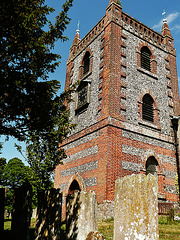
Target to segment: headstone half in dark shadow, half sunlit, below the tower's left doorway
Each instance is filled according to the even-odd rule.
[[[76,192],[67,197],[67,240],[85,240],[97,231],[97,200],[94,192]]]

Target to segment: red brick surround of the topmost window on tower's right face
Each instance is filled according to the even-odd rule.
[[[137,53],[137,66],[141,68],[141,49],[143,47],[147,47],[151,52],[151,72],[154,74],[157,74],[157,61],[156,61],[156,55],[154,54],[154,51],[152,50],[151,46],[147,42],[141,42],[136,48]]]

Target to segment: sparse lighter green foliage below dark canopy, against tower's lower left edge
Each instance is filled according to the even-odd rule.
[[[53,187],[52,178],[57,165],[62,158],[66,157],[65,151],[59,148],[59,144],[75,127],[69,122],[69,111],[64,105],[64,100],[70,101],[70,92],[75,91],[74,85],[68,92],[62,95],[62,100],[56,103],[56,115],[53,116],[54,125],[49,128],[47,135],[37,135],[30,132],[26,139],[26,154],[24,155],[20,146],[15,145],[17,150],[24,156],[31,168],[33,185],[40,190]]]

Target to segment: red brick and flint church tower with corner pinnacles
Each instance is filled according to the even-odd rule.
[[[80,82],[69,104],[77,124],[55,171],[64,196],[95,191],[114,200],[115,180],[129,174],[158,176],[160,202],[178,200],[172,118],[179,114],[176,52],[164,20],[161,34],[110,0],[106,14],[70,48],[65,88]]]

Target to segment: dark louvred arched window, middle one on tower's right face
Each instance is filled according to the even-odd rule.
[[[142,118],[144,120],[154,122],[153,103],[154,103],[154,100],[150,94],[144,95],[143,103],[142,103]]]

